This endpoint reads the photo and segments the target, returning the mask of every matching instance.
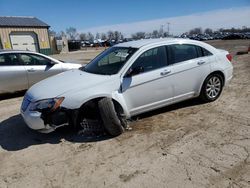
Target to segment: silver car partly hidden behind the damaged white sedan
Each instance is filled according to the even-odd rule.
[[[27,90],[33,84],[81,67],[30,51],[0,51],[0,94]]]

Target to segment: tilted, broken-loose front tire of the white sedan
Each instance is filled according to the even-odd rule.
[[[124,132],[124,127],[116,113],[111,98],[103,98],[98,102],[103,125],[108,134],[118,136]]]

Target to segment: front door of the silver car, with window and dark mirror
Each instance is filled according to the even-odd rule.
[[[29,87],[63,71],[61,64],[51,62],[50,59],[37,54],[23,53],[19,58],[27,71]]]

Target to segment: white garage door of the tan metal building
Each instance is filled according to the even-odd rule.
[[[37,37],[34,33],[10,34],[13,50],[29,50],[38,52]]]

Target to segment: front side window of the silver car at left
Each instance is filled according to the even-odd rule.
[[[20,54],[20,59],[24,65],[49,65],[50,60],[42,56],[33,54]]]

